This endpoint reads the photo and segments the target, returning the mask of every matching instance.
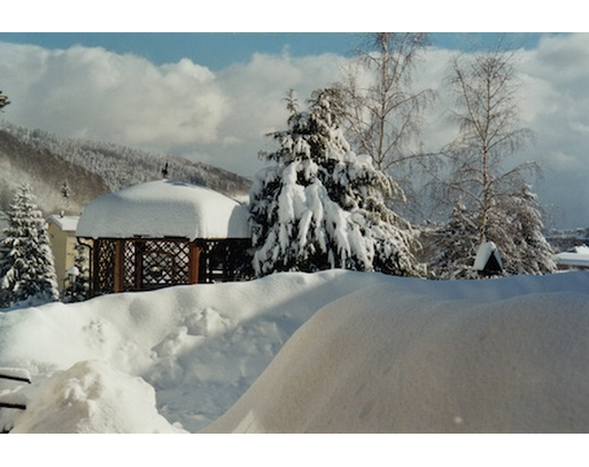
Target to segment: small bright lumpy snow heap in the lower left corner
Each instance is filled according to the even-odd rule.
[[[80,361],[27,393],[11,433],[183,431],[158,414],[151,386],[100,361]]]

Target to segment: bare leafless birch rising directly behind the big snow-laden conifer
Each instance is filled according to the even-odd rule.
[[[423,32],[377,32],[365,38],[342,79],[349,139],[378,170],[405,185],[399,167],[412,159],[409,145],[433,91],[412,89],[416,60],[426,51]]]

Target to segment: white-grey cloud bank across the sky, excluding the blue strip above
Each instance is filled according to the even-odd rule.
[[[261,167],[263,135],[286,126],[283,97],[301,100],[340,78],[345,58],[254,54],[218,72],[191,60],[156,66],[101,48],[0,43],[0,89],[12,105],[2,116],[29,128],[183,155],[243,175]],[[450,141],[442,80],[449,58],[431,50],[416,70],[416,87],[440,90],[426,116],[427,146]],[[589,225],[589,34],[547,37],[522,51],[521,117],[538,136],[522,158],[545,165],[540,200],[562,207],[561,225]]]

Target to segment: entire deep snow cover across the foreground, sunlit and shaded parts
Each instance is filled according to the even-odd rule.
[[[28,405],[0,410],[0,425],[585,433],[588,294],[582,272],[433,282],[335,270],[14,310],[0,314],[0,367],[27,367],[33,384],[0,387]]]

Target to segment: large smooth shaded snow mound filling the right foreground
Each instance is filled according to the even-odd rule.
[[[586,433],[588,289],[563,278],[331,302],[206,433]],[[551,291],[512,296],[522,282]]]

